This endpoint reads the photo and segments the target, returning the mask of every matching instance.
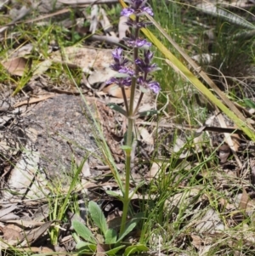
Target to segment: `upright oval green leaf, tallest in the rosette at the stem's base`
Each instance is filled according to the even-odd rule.
[[[88,210],[91,215],[91,218],[94,221],[94,224],[99,227],[99,229],[103,232],[105,236],[108,227],[103,211],[101,210],[101,208],[99,208],[99,205],[94,201],[90,201],[88,203]]]

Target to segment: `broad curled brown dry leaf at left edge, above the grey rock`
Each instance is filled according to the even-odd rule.
[[[22,77],[26,70],[31,68],[31,61],[18,57],[2,62],[2,65],[11,75]]]

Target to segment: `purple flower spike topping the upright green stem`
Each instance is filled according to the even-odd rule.
[[[158,94],[160,91],[160,84],[152,80],[150,72],[158,70],[156,64],[152,64],[151,60],[153,59],[154,54],[148,49],[151,46],[151,43],[145,39],[139,38],[139,30],[145,26],[151,24],[151,22],[141,19],[140,16],[146,14],[153,15],[152,9],[145,6],[147,0],[126,0],[129,3],[129,7],[122,9],[122,16],[127,16],[126,24],[133,28],[133,35],[128,38],[123,38],[127,43],[127,46],[133,48],[133,54],[135,59],[132,65],[127,65],[130,63],[130,60],[125,58],[122,48],[116,48],[112,52],[112,57],[114,63],[111,66],[111,69],[117,71],[118,74],[116,77],[112,77],[106,84],[114,83],[120,87],[124,86],[133,86],[144,88],[145,90],[150,89],[155,94]],[[133,14],[136,18],[133,20],[129,16]],[[144,56],[139,57],[138,48],[144,50]],[[134,81],[134,80],[136,81]],[[132,84],[133,81],[133,84]],[[142,91],[144,93],[144,91]],[[126,103],[125,103],[126,104]]]

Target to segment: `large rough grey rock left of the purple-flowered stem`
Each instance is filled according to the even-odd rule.
[[[75,157],[96,151],[88,116],[80,96],[59,94],[40,102],[27,117],[29,127],[37,130],[35,148],[40,153],[40,168],[49,178],[66,177]]]

